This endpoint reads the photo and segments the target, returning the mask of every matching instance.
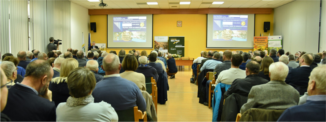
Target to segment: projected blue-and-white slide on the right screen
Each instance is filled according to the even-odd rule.
[[[248,15],[213,15],[213,41],[247,41]]]

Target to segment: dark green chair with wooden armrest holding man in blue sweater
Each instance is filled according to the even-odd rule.
[[[127,110],[115,111],[118,114],[119,122],[139,122],[139,119],[143,119],[147,122],[147,114],[138,110],[138,106]]]

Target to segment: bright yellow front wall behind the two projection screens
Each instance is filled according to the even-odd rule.
[[[91,15],[91,22],[96,22],[96,32],[91,32],[91,41],[96,43],[107,43],[107,15]],[[177,27],[177,21],[182,21],[182,27]],[[256,14],[255,36],[263,32],[264,21],[271,22],[270,35],[273,35],[273,14]],[[262,25],[260,25],[262,23]],[[227,49],[206,49],[206,14],[159,14],[153,15],[153,39],[154,36],[185,36],[185,57],[197,58],[201,51],[225,51]],[[265,33],[264,33],[265,35]],[[154,45],[153,45],[154,47]],[[107,49],[109,51],[121,49]],[[132,49],[125,49],[126,52]],[[153,49],[146,50],[148,53]],[[242,50],[244,52],[253,51],[253,49],[230,49],[231,51]]]

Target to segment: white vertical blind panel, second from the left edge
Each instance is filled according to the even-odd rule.
[[[11,54],[28,50],[27,0],[10,0],[10,44]]]

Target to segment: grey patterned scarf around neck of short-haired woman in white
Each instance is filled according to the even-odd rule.
[[[88,95],[85,97],[80,97],[80,98],[74,98],[74,97],[68,97],[67,99],[67,106],[69,107],[76,107],[78,105],[83,105],[83,104],[90,104],[94,103],[94,97],[93,95]]]

